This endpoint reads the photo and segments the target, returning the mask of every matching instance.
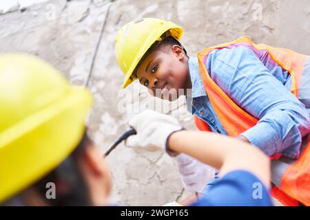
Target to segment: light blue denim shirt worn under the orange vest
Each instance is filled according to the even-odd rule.
[[[309,67],[310,59],[307,67]],[[282,153],[296,158],[302,137],[310,132],[310,117],[304,104],[291,92],[291,76],[267,52],[255,54],[242,45],[212,51],[205,61],[214,82],[239,107],[259,119],[242,133],[267,155]],[[309,72],[310,68],[305,69]],[[203,87],[198,59],[189,58],[192,97],[187,109],[207,122],[212,131],[227,135]]]

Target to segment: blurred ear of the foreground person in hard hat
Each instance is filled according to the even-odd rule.
[[[85,165],[93,175],[104,175],[105,164],[99,148],[93,145],[86,147],[83,155]]]

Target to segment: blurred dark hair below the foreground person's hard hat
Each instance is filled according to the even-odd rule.
[[[32,198],[28,198],[26,194],[28,190],[32,190],[36,192],[36,195],[39,195],[39,199],[47,206],[90,206],[89,193],[79,167],[79,159],[83,155],[85,148],[90,144],[92,144],[92,141],[85,132],[79,145],[59,166],[28,189],[3,203],[3,205],[29,205],[28,201]],[[50,182],[56,186],[56,199],[46,197],[48,191],[46,187]]]

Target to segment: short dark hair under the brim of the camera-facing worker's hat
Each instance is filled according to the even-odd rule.
[[[165,37],[164,35],[165,34],[163,34],[162,38]],[[155,41],[155,43],[153,43],[152,46],[149,47],[147,52],[145,52],[145,54],[143,55],[143,57],[139,61],[138,65],[136,65],[136,68],[134,69],[134,77],[137,78],[136,72],[138,71],[138,68],[142,65],[145,58],[147,58],[147,56],[149,56],[149,54],[151,54],[152,52],[154,52],[154,50],[157,50],[157,49],[162,50],[165,53],[168,53],[174,45],[178,45],[178,46],[182,47],[184,52],[185,52],[185,55],[188,57],[187,51],[185,50],[183,45],[178,40],[176,40],[173,36],[167,36],[162,41]]]

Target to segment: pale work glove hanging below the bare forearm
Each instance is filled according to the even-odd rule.
[[[211,179],[214,179],[215,168],[184,153],[180,153],[175,159],[178,162],[178,170],[182,175],[185,190],[198,192],[203,190]]]

